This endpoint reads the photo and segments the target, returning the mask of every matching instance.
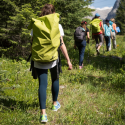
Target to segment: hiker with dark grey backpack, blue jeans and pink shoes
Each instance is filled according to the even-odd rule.
[[[74,32],[74,48],[76,49],[76,46],[79,49],[79,69],[82,69],[83,67],[83,59],[84,59],[84,53],[86,48],[86,35],[87,35],[87,42],[89,43],[89,29],[86,27],[87,22],[82,21],[81,26],[77,27]]]

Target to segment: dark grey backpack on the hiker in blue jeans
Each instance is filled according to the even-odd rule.
[[[84,37],[86,36],[86,31],[81,26],[77,27],[74,32],[74,40],[76,42],[82,42]]]

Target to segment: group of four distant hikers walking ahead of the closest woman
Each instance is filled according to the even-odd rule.
[[[87,43],[89,43],[90,39],[89,29],[86,26],[87,22],[82,21],[81,26],[77,27],[74,32],[74,41],[75,41],[74,48],[76,49],[77,46],[79,50],[79,69],[82,69],[83,67],[84,52],[86,47],[86,36],[87,36]],[[117,30],[114,18],[110,19],[110,21],[106,19],[105,24],[103,24],[103,21],[100,19],[100,15],[96,13],[94,18],[90,22],[90,30],[92,32],[92,39],[96,41],[97,55],[100,54],[99,50],[101,46],[103,45],[104,47],[104,39],[106,41],[107,51],[111,50],[111,39],[113,43],[113,48],[116,49]],[[103,53],[104,53],[104,48],[103,48]]]

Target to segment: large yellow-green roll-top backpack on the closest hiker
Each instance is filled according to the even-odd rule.
[[[33,29],[32,60],[43,63],[57,60],[60,45],[59,14],[32,18],[28,29]]]

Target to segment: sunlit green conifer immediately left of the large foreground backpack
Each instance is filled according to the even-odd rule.
[[[36,15],[30,4],[22,5],[21,9],[17,10],[17,14],[10,17],[8,23],[11,28],[9,30],[10,39],[8,39],[8,42],[12,43],[13,46],[8,51],[9,53],[11,52],[13,57],[25,57],[29,53],[31,38],[26,26],[33,17],[36,17]]]

